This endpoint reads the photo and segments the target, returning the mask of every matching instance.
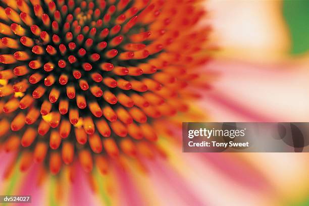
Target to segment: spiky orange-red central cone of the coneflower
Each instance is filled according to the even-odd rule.
[[[85,171],[157,140],[153,119],[185,112],[208,60],[198,1],[2,0],[0,141],[20,169]],[[197,6],[196,6],[197,5]],[[194,84],[192,84],[194,85]]]

